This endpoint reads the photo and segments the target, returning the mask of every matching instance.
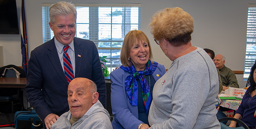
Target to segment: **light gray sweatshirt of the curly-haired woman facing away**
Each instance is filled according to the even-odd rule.
[[[150,129],[220,129],[218,73],[200,47],[175,59],[154,85]]]

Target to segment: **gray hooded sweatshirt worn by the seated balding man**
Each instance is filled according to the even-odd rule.
[[[71,112],[65,112],[51,125],[51,129],[113,129],[109,112],[98,100],[90,109],[71,126]]]

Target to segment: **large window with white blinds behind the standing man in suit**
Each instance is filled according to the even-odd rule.
[[[107,56],[111,72],[121,66],[120,51],[124,36],[141,29],[141,4],[74,4],[77,9],[76,37],[94,41],[99,56]],[[42,4],[43,42],[54,34],[49,26],[49,8]]]

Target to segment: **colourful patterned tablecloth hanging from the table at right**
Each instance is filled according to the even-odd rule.
[[[226,107],[232,110],[237,110],[242,100],[221,100],[222,107]]]

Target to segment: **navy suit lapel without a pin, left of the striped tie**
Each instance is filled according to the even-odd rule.
[[[48,55],[48,57],[51,61],[51,64],[53,65],[53,67],[57,71],[58,75],[63,80],[63,82],[68,86],[68,81],[66,79],[66,76],[64,75],[62,66],[61,66],[60,61],[59,61],[57,48],[54,44],[54,38],[52,38],[51,43],[48,47],[48,50],[49,50],[49,53],[47,55]]]

